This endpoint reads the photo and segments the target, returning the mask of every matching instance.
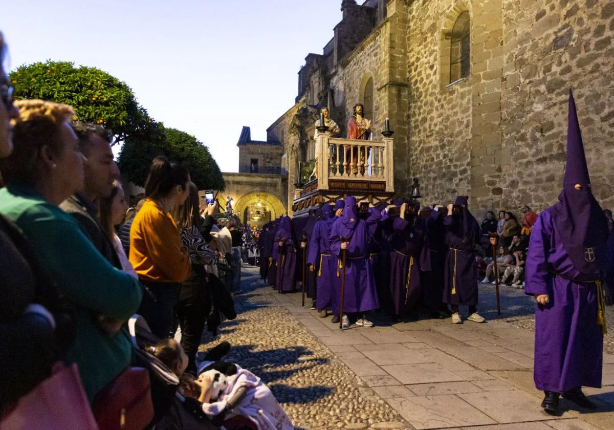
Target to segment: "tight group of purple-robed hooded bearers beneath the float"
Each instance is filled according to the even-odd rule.
[[[377,309],[394,321],[418,319],[422,308],[432,318],[462,322],[460,306],[468,307],[470,321],[484,322],[476,310],[481,230],[467,204],[466,196],[432,208],[349,196],[306,217],[282,216],[260,234],[260,276],[285,294],[302,288],[304,270],[312,308],[343,327],[373,327],[366,314]]]

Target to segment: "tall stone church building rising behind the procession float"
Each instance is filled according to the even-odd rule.
[[[289,203],[319,108],[344,135],[363,103],[376,136],[385,118],[395,131],[398,195],[418,177],[424,203],[467,193],[475,209],[543,209],[561,189],[572,88],[593,191],[614,205],[614,0],[343,0],[341,11],[267,130]]]

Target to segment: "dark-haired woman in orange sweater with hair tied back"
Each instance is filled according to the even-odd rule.
[[[165,157],[153,159],[145,183],[146,201],[130,229],[130,262],[146,289],[139,309],[153,334],[171,336],[179,287],[192,269],[171,208],[188,197],[190,173]]]

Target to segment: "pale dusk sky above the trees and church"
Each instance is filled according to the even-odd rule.
[[[241,127],[252,139],[297,96],[308,53],[322,53],[340,0],[2,1],[10,67],[47,59],[123,80],[166,127],[195,135],[222,171],[238,170]]]

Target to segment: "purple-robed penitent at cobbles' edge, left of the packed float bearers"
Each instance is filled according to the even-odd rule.
[[[282,243],[279,246],[279,243]],[[278,291],[295,291],[297,283],[297,246],[292,232],[292,221],[289,216],[279,219],[279,227],[273,243],[274,256],[277,257]]]

